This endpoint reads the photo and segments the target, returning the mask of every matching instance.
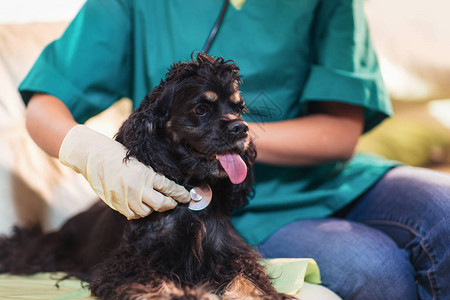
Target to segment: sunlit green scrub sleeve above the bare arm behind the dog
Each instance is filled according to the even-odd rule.
[[[392,114],[370,40],[364,0],[322,1],[313,26],[312,47],[315,57],[302,104],[336,101],[363,106],[364,131]]]

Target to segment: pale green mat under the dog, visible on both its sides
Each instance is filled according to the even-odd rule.
[[[298,295],[303,282],[320,283],[316,262],[307,258],[279,258],[263,260],[267,274],[275,288],[283,293]],[[81,300],[91,297],[86,283],[76,279],[60,281],[63,273],[39,273],[31,276],[0,275],[0,299],[21,300]]]

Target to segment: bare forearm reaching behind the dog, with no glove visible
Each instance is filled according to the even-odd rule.
[[[363,109],[321,103],[320,112],[273,122],[250,123],[258,161],[277,165],[315,165],[349,159],[363,130]]]

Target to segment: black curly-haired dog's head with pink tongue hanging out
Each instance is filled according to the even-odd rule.
[[[197,53],[191,61],[174,63],[117,140],[128,156],[179,184],[226,179],[248,185],[256,152],[242,119],[240,82],[237,65],[221,57]]]

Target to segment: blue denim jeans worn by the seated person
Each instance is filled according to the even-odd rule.
[[[450,176],[397,167],[327,219],[288,224],[266,257],[312,257],[343,299],[450,299]]]

